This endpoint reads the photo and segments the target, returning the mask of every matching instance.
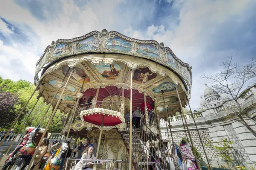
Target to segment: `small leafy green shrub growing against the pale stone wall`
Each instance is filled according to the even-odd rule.
[[[220,156],[222,160],[232,161],[229,155],[230,155],[230,150],[233,143],[231,141],[228,141],[227,138],[221,139],[221,142],[216,142],[216,143],[218,144],[218,146],[213,146],[211,141],[207,141],[205,145],[213,147],[216,150],[216,152],[219,153],[218,156]]]

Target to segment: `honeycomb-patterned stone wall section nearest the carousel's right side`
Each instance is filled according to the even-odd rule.
[[[201,137],[201,139],[204,143],[204,149],[206,150],[208,158],[218,160],[218,156],[217,156],[218,153],[212,147],[209,147],[209,146],[205,145],[207,143],[207,141],[212,142],[212,138],[210,138],[208,128],[198,129],[198,130],[199,130],[199,133],[200,133],[200,137]],[[168,139],[168,133],[166,132],[165,134],[166,134],[166,139]],[[206,156],[204,155],[204,150],[203,150],[202,144],[200,142],[197,130],[190,130],[190,134],[191,134],[194,146],[197,148],[198,152],[201,153],[202,158],[206,159]],[[171,133],[170,132],[169,132],[169,137],[171,139]],[[185,131],[175,131],[175,132],[172,132],[172,137],[173,137],[173,140],[176,144],[180,144],[181,139],[183,137],[186,138],[186,133],[185,133]],[[188,134],[187,134],[187,137],[189,138]]]

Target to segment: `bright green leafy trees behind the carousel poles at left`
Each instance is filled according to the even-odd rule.
[[[27,100],[29,99],[29,97],[31,96],[33,91],[35,90],[35,86],[31,82],[28,82],[26,80],[18,80],[17,82],[14,82],[11,79],[2,79],[2,77],[0,77],[0,87],[1,87],[0,93],[2,91],[2,93],[6,92],[6,93],[18,95],[19,102],[16,102],[15,105],[13,106],[13,109],[11,109],[10,113],[8,113],[10,115],[9,121],[12,123],[14,121],[16,115],[19,114],[20,110],[23,108],[23,106],[25,105],[25,103],[27,102]],[[21,128],[21,125],[26,120],[27,115],[29,115],[33,106],[37,102],[37,95],[38,95],[38,93],[36,92],[32,96],[32,98],[30,99],[26,108],[24,109],[23,114],[21,115],[21,117],[19,118],[17,123],[15,123],[15,126],[14,126],[15,133],[17,133],[19,131],[19,129]],[[41,127],[45,128],[46,124],[50,118],[50,115],[52,114],[52,110],[53,110],[52,106],[50,106],[50,109],[49,109],[48,113],[46,114],[46,117],[44,118],[44,120],[41,121],[41,118],[44,116],[45,111],[48,108],[48,106],[49,105],[46,105],[43,102],[43,97],[41,97],[38,100],[38,103],[35,106],[34,110],[31,112],[30,116],[27,118],[27,121],[24,124],[23,129],[21,130],[21,133],[24,132],[24,129],[27,126],[36,127],[36,126],[38,126],[38,124],[40,122],[41,122]],[[15,116],[12,116],[11,114],[13,114]],[[64,125],[64,123],[61,122],[61,119],[63,119],[63,117],[65,117],[65,116],[63,114],[61,114],[59,112],[59,110],[57,110],[55,117],[53,117],[53,121],[49,126],[50,133],[60,133],[61,132],[62,127]],[[5,126],[3,126],[2,129],[3,128],[9,129],[11,123],[5,124]],[[2,123],[0,122],[0,124],[2,124]]]

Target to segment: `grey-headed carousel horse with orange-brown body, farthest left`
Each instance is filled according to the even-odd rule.
[[[26,166],[29,164],[32,156],[35,153],[35,137],[40,130],[40,126],[38,126],[34,128],[33,131],[30,132],[27,144],[21,147],[21,149],[14,156],[13,159],[15,160],[15,163],[12,166],[11,170],[24,170]]]

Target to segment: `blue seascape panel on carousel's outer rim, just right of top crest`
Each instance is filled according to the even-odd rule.
[[[126,41],[117,36],[108,39],[108,44],[106,46],[113,51],[121,51],[121,52],[130,52],[132,49],[132,45],[129,41]]]

